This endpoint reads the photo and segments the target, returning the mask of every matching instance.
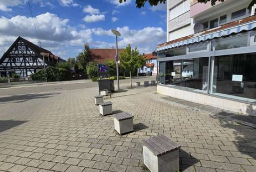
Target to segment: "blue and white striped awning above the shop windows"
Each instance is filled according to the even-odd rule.
[[[185,45],[188,45],[188,44],[193,44],[195,42],[200,42],[200,41],[205,41],[205,40],[212,40],[214,38],[220,38],[222,36],[228,36],[232,33],[240,33],[242,31],[250,31],[254,28],[256,28],[256,20],[248,22],[248,23],[244,23],[244,24],[241,24],[241,25],[238,25],[238,26],[233,26],[233,27],[229,27],[229,28],[226,28],[226,29],[223,29],[223,30],[219,30],[219,31],[216,31],[216,32],[213,32],[213,33],[208,33],[208,34],[203,34],[204,32],[195,33],[193,38],[190,38],[188,40],[183,40],[183,41],[180,41],[180,42],[175,42],[173,44],[166,45],[166,46],[163,45],[163,46],[157,47],[157,48],[155,48],[155,52],[167,50],[169,48],[174,48],[174,47],[178,47],[178,46],[185,46]]]

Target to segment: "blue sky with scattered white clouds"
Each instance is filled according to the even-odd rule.
[[[135,0],[0,0],[0,56],[21,36],[63,59],[76,57],[85,43],[115,47],[111,29],[121,33],[120,48],[130,43],[151,53],[166,41],[166,4],[138,9]]]

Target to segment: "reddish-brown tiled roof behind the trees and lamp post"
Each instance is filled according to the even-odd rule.
[[[118,55],[124,49],[118,49]],[[108,60],[115,60],[115,48],[90,48],[91,61],[98,61],[100,63]]]

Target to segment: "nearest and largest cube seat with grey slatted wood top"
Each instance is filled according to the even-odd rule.
[[[179,146],[164,135],[142,140],[144,164],[151,172],[179,171]]]

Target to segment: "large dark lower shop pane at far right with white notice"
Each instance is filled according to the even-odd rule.
[[[213,57],[212,94],[256,102],[256,53]]]

